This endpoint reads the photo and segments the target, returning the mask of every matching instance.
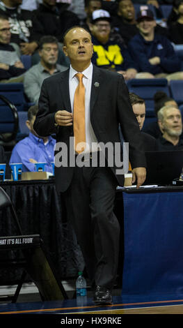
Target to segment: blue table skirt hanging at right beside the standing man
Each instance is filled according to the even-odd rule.
[[[122,295],[183,294],[183,193],[123,193]]]

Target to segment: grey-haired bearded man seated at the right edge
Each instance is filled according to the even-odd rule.
[[[164,106],[157,113],[163,135],[158,139],[158,150],[183,150],[182,116],[177,107]]]

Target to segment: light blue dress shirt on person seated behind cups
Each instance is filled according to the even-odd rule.
[[[39,163],[47,163],[45,171],[52,173],[51,162],[54,162],[55,143],[56,140],[51,136],[48,137],[47,144],[44,144],[40,137],[29,133],[28,137],[17,142],[13,148],[10,164],[22,163],[22,172],[34,172],[35,165],[29,161],[29,158],[33,158]]]

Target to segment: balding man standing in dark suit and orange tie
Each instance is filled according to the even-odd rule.
[[[67,216],[95,286],[95,304],[111,304],[120,232],[113,204],[116,186],[124,183],[118,126],[120,124],[124,139],[129,142],[129,160],[137,188],[145,181],[146,173],[141,132],[122,75],[91,64],[90,33],[82,27],[73,27],[65,34],[63,50],[70,58],[70,69],[42,83],[34,128],[39,135],[56,133],[56,188],[65,200]],[[79,110],[84,103],[85,114],[76,122],[75,97],[81,83],[78,74],[83,76],[84,88],[80,90],[85,90]],[[85,132],[85,142],[80,142],[84,150],[77,154],[79,147],[77,141],[74,145],[73,136],[77,140],[77,124],[83,121],[79,132]],[[109,145],[109,149],[102,145]],[[97,165],[93,165],[96,154]],[[102,154],[105,154],[103,166],[98,161]],[[113,165],[111,160],[115,160]]]

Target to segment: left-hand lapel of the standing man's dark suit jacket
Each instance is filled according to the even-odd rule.
[[[63,98],[63,103],[65,105],[65,110],[72,112],[70,104],[70,87],[69,87],[69,73],[70,70],[65,70],[61,75],[61,94]]]

